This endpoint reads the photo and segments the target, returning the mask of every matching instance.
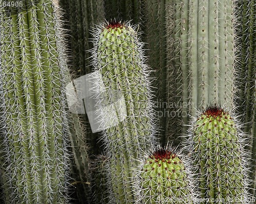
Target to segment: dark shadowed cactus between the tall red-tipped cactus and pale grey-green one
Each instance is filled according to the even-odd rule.
[[[165,144],[166,119],[166,1],[149,0],[142,3],[143,21],[141,27],[143,40],[146,42],[146,56],[148,65],[153,69],[151,77],[154,79],[154,101],[157,101],[156,111],[159,120],[159,135],[161,144]]]

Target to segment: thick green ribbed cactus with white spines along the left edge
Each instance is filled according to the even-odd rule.
[[[65,54],[56,1],[0,6],[2,128],[11,203],[67,203]],[[5,186],[4,186],[5,187]]]

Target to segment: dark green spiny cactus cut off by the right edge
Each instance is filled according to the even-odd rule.
[[[238,64],[238,94],[237,111],[244,123],[243,131],[251,135],[250,152],[253,161],[252,175],[254,184],[252,193],[256,196],[256,1],[240,1],[238,15],[240,16],[241,49],[238,50],[240,63]]]

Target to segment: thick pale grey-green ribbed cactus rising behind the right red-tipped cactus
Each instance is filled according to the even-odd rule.
[[[233,104],[234,15],[232,0],[173,0],[167,4],[167,135],[185,134],[189,115],[207,104]]]

